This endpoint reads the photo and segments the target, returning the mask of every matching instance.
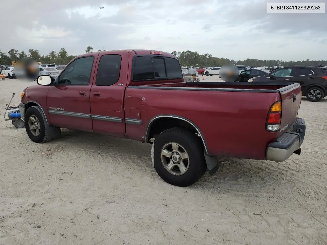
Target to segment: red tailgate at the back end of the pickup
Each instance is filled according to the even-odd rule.
[[[278,89],[282,99],[282,119],[279,135],[283,134],[296,120],[301,104],[301,86],[295,83]]]

